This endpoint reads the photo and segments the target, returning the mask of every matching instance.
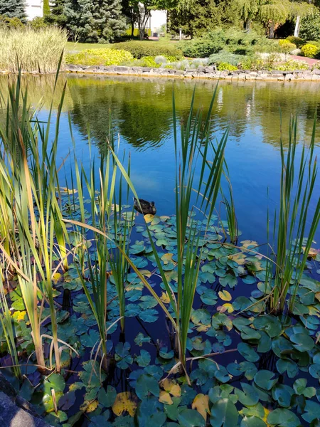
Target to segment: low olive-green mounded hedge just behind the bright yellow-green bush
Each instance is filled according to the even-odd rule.
[[[170,44],[164,46],[155,41],[124,41],[112,44],[112,49],[124,50],[132,53],[134,58],[140,59],[143,56],[174,56],[176,59],[182,58],[181,51]]]

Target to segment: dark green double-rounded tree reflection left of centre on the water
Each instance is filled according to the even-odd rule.
[[[85,84],[83,84],[85,83]],[[111,79],[69,79],[73,97],[71,117],[82,134],[90,134],[102,144],[109,134],[109,112],[120,135],[134,147],[157,147],[171,129],[172,93],[169,85],[146,84]]]

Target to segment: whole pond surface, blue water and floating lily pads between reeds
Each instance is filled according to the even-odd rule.
[[[193,305],[197,310],[191,317],[192,330],[189,330],[187,348],[189,356],[193,357],[216,353],[214,360],[218,364],[218,371],[217,367],[215,369],[210,367],[212,362],[206,364],[208,359],[193,362],[194,368],[190,376],[193,389],[188,387],[185,381],[174,382],[176,380],[170,379],[168,384],[161,385],[160,401],[157,381],[168,375],[175,364],[172,351],[173,334],[168,333],[170,328],[161,308],[156,307],[156,302],[155,304],[151,302],[147,290],[142,291],[139,288],[139,280],[135,282],[137,277],[134,276],[133,270],[131,269],[129,273],[130,280],[135,284],[131,283],[133,293],[127,292],[128,295],[126,295],[126,317],[129,317],[126,319],[126,334],[125,336],[119,334],[119,327],[116,332],[110,331],[112,332],[110,342],[113,343],[113,348],[110,344],[108,349],[112,354],[116,353],[116,362],[107,374],[102,372],[106,392],[100,389],[101,378],[99,379],[97,372],[93,374],[92,379],[89,369],[91,367],[89,361],[92,357],[90,351],[99,337],[95,319],[92,318],[90,307],[85,301],[85,295],[80,291],[79,283],[74,287],[65,286],[63,278],[60,278],[57,288],[61,294],[57,296],[57,300],[63,307],[68,307],[68,304],[65,305],[63,290],[71,291],[68,295],[71,298],[71,307],[68,307],[71,317],[67,323],[61,322],[60,326],[63,339],[70,339],[68,342],[71,344],[80,341],[84,347],[84,349],[81,348],[80,362],[77,357],[71,359],[69,370],[82,371],[85,374],[80,374],[79,377],[76,374],[66,374],[63,386],[59,383],[55,387],[55,381],[52,381],[51,386],[56,393],[60,393],[61,400],[58,408],[63,415],[54,411],[54,404],[49,396],[48,399],[51,400],[44,405],[50,411],[50,416],[47,415],[46,418],[48,422],[69,427],[72,423],[69,418],[70,424],[68,424],[67,419],[74,416],[77,426],[90,425],[90,427],[96,425],[298,427],[309,426],[311,422],[313,426],[318,426],[320,405],[317,401],[320,396],[316,388],[319,388],[320,350],[315,342],[320,323],[320,288],[319,283],[316,282],[320,279],[319,255],[312,256],[307,262],[308,278],[304,278],[304,292],[299,291],[301,304],[299,304],[299,310],[296,309],[289,320],[267,315],[259,305],[261,301],[257,303],[257,310],[248,309],[244,314],[242,310],[249,306],[248,298],[259,300],[267,293],[260,285],[265,279],[265,258],[252,261],[250,248],[254,247],[255,242],[261,245],[267,243],[268,212],[270,229],[273,227],[274,211],[277,210],[279,213],[282,167],[280,138],[282,138],[284,149],[287,149],[289,123],[292,118],[296,118],[299,142],[296,148],[297,159],[302,154],[304,144],[309,147],[314,117],[319,114],[320,85],[220,81],[217,87],[215,81],[61,75],[58,78],[53,100],[51,138],[55,134],[58,103],[65,81],[67,86],[60,117],[57,155],[58,164],[63,163],[60,169],[60,184],[69,188],[75,184],[74,175],[70,174],[70,167],[73,167],[74,163],[73,154],[70,155],[73,149],[77,159],[82,162],[85,172],[90,172],[92,159],[98,164],[99,157],[104,153],[106,140],[110,137],[111,122],[115,135],[114,147],[117,148],[119,159],[122,159],[124,153],[126,158],[130,157],[130,178],[137,194],[142,199],[154,201],[156,204],[154,218],[159,219],[151,218],[150,229],[154,233],[154,241],[160,242],[157,246],[161,255],[169,252],[169,258],[163,258],[162,265],[171,284],[175,282],[171,270],[174,269],[176,261],[176,248],[171,247],[169,243],[161,244],[161,242],[166,241],[164,231],[167,236],[170,233],[176,233],[176,221],[172,216],[176,211],[173,93],[177,121],[185,125],[193,93],[195,111],[193,116],[195,117],[197,110],[201,110],[206,117],[216,90],[210,136],[214,142],[218,143],[228,131],[225,161],[228,164],[235,214],[240,229],[238,245],[245,255],[243,263],[239,262],[236,266],[230,264],[227,267],[227,261],[224,263],[223,259],[220,260],[218,255],[214,255],[214,251],[220,250],[220,243],[211,242],[207,245],[206,253],[212,257],[208,255],[207,258],[205,256],[202,258],[206,262],[208,260],[208,263],[201,265],[200,280]],[[6,93],[7,83],[7,77],[0,78],[0,89],[4,93]],[[33,108],[41,106],[38,118],[43,122],[48,120],[54,83],[53,76],[23,76],[23,85],[28,85],[28,100]],[[4,120],[4,115],[0,114],[0,121],[4,123]],[[179,125],[178,127],[180,128]],[[90,144],[88,135],[90,135]],[[314,155],[319,157],[319,127],[316,128],[315,139]],[[299,164],[297,169],[298,167]],[[98,176],[97,170],[95,174]],[[196,167],[195,180],[200,179],[200,176],[201,168]],[[205,179],[208,179],[207,175]],[[222,182],[222,187],[224,191],[228,188],[226,181]],[[310,201],[309,216],[306,220],[307,229],[311,226],[311,217],[316,209],[319,194],[320,179],[317,176],[314,194]],[[68,204],[67,199],[65,197],[65,204]],[[191,196],[191,200],[196,203],[196,194]],[[220,201],[221,199],[218,198],[216,221],[218,216],[221,220],[226,218],[225,207]],[[211,223],[210,226],[212,226]],[[213,231],[214,229],[210,230],[210,233]],[[157,234],[158,237],[156,237]],[[319,248],[319,239],[318,228],[314,237],[314,248]],[[156,263],[153,255],[150,255],[147,240],[143,216],[137,215],[136,224],[132,229],[130,254],[133,255],[134,263],[138,268],[142,270],[153,268],[156,271]],[[138,242],[134,245],[135,241]],[[241,241],[245,243],[242,244]],[[171,252],[173,256],[170,255]],[[265,253],[265,248],[262,248],[261,252]],[[219,256],[227,259],[232,255],[233,253],[226,252],[220,253]],[[211,261],[215,264],[213,270],[208,267]],[[239,273],[241,265],[245,266],[243,270],[245,273]],[[251,265],[250,268],[249,265]],[[228,268],[233,271],[226,274],[225,271]],[[236,273],[235,278],[230,278],[235,271],[239,274]],[[68,284],[70,280],[75,280],[77,271],[71,268],[69,275],[66,274],[65,282]],[[159,271],[151,277],[151,285],[159,295],[166,290]],[[108,292],[112,297],[115,295],[114,289]],[[243,297],[245,300],[242,300]],[[14,297],[14,300],[17,299],[18,297]],[[137,311],[137,304],[144,315]],[[221,305],[225,305],[223,310]],[[21,307],[18,310],[21,310]],[[119,317],[117,310],[118,307],[111,302],[110,322]],[[235,316],[235,312],[241,312],[242,316]],[[218,313],[218,317],[211,320],[214,313]],[[259,317],[260,314],[262,315]],[[77,330],[76,323],[79,321],[83,327],[82,332]],[[211,323],[210,328],[207,327],[208,322]],[[68,328],[80,337],[78,341],[70,337]],[[284,334],[285,338],[278,337],[280,334]],[[312,344],[309,342],[309,335],[312,338]],[[116,347],[115,350],[114,347]],[[235,353],[237,349],[238,352]],[[292,354],[292,358],[287,354]],[[80,366],[84,361],[85,364],[87,363],[87,371],[85,364],[83,367]],[[240,362],[241,366],[238,364]],[[58,374],[53,375],[60,378]],[[88,385],[87,376],[90,376],[93,385]],[[152,383],[151,377],[157,380],[156,384]],[[179,375],[173,377],[178,379]],[[304,384],[304,378],[307,379],[308,387]],[[30,379],[33,385],[36,384],[39,380],[38,372],[33,371]],[[46,396],[48,393],[48,381],[50,382],[50,376],[33,394],[32,399],[32,394],[30,396],[32,403],[42,410],[41,399],[43,394]],[[144,381],[146,381],[145,384],[143,384]],[[129,391],[132,395],[126,394]],[[67,397],[62,396],[62,392]],[[137,406],[134,393],[137,393],[138,400],[143,402],[137,410],[136,424],[133,424],[131,417]],[[196,398],[196,396],[199,397]],[[69,397],[70,401],[68,401]],[[124,401],[121,401],[120,397]],[[117,408],[114,404],[115,400]],[[85,409],[82,406],[79,416],[79,408],[83,401],[87,406]],[[201,419],[199,421],[194,415],[195,411],[191,411],[191,406],[207,419],[208,424],[203,424],[203,421],[201,423]],[[124,410],[121,411],[121,408]],[[41,409],[39,411],[41,412]],[[154,414],[154,418],[150,411]],[[241,414],[239,418],[238,411]],[[146,415],[148,412],[149,416]],[[211,413],[208,418],[207,412]],[[163,416],[164,413],[166,416]],[[268,418],[270,413],[273,415]],[[118,414],[122,416],[114,418]],[[222,420],[225,416],[223,424]]]

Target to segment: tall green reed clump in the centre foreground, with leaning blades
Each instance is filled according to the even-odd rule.
[[[177,297],[171,290],[156,246],[146,225],[154,257],[161,274],[161,279],[169,295],[174,315],[169,313],[149,283],[141,277],[142,275],[138,274],[139,272],[137,273],[137,269],[134,269],[171,321],[176,332],[178,357],[184,369],[186,367],[188,328],[201,265],[202,250],[198,250],[198,246],[201,238],[203,238],[198,232],[196,221],[189,215],[190,211],[193,211],[191,194],[193,194],[193,191],[196,191],[196,203],[200,201],[200,211],[204,218],[206,218],[206,228],[208,228],[215,209],[215,202],[218,199],[220,179],[225,162],[225,145],[228,139],[228,130],[225,131],[217,145],[213,144],[210,139],[210,115],[213,109],[215,93],[213,94],[208,114],[204,119],[200,110],[194,113],[193,94],[188,120],[186,124],[181,123],[180,135],[178,135],[178,120],[176,117],[175,101],[173,99],[174,146],[176,153]],[[212,159],[208,161],[208,157],[210,156],[212,156]],[[127,176],[121,162],[119,162],[119,159],[115,155],[114,157],[124,178],[129,183],[134,196],[138,198],[132,181]],[[195,179],[197,164],[201,169],[198,182]],[[206,233],[204,237],[206,237]]]

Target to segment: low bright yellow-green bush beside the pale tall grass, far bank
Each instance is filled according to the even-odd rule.
[[[67,55],[65,62],[80,65],[119,65],[124,61],[132,60],[133,56],[128,51],[116,51],[110,48],[86,49],[79,53]]]

